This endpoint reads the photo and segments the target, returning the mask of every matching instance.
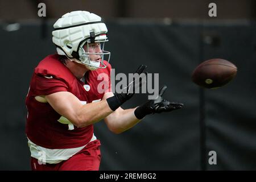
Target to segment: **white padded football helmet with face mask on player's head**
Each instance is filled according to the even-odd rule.
[[[53,25],[52,42],[57,47],[59,55],[66,55],[69,59],[75,58],[78,63],[84,64],[90,70],[97,68],[106,68],[104,64],[104,55],[110,59],[110,52],[104,50],[105,42],[108,42],[106,33],[108,29],[105,23],[101,22],[101,17],[89,13],[88,11],[72,11],[71,13],[64,14]],[[85,51],[83,48],[87,43],[101,43],[101,52],[91,53],[88,49]],[[100,55],[100,61],[90,60],[90,55]]]

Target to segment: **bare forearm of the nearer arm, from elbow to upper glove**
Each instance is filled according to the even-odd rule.
[[[106,100],[83,105],[77,112],[77,127],[92,125],[113,113]]]

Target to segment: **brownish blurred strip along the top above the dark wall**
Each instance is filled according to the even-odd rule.
[[[208,5],[216,3],[218,19],[255,18],[254,0],[0,0],[1,19],[36,19],[38,4],[47,6],[47,18],[73,10],[88,10],[103,18],[209,19]]]

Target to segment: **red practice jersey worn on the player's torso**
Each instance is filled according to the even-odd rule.
[[[110,71],[110,64],[105,69],[87,71],[85,82],[82,82],[61,63],[59,55],[49,55],[40,61],[32,75],[26,97],[28,139],[38,146],[51,149],[75,148],[87,144],[93,136],[93,125],[81,128],[73,126],[48,102],[39,102],[35,96],[64,91],[74,94],[83,104],[100,101],[104,93],[110,91]],[[103,93],[102,90],[104,90]]]

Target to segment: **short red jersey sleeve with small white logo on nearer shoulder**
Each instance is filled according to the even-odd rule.
[[[37,95],[47,96],[55,92],[68,91],[68,85],[53,76],[35,75],[35,91]]]

